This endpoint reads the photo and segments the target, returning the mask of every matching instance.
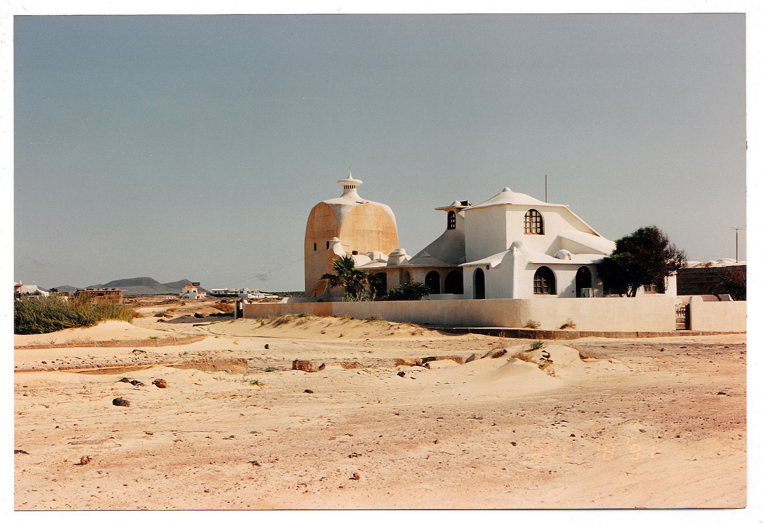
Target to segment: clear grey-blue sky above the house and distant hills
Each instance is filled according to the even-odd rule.
[[[17,16],[14,279],[302,290],[311,207],[410,255],[504,187],[694,261],[745,226],[744,14]],[[746,230],[739,259],[746,258]]]

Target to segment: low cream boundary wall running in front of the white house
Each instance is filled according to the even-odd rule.
[[[517,327],[531,319],[540,329],[559,329],[571,319],[581,331],[675,330],[675,297],[533,298],[494,300],[421,300],[369,302],[243,303],[243,318],[308,313],[317,316],[377,316],[391,322],[450,327]],[[694,305],[694,303],[692,303]],[[702,303],[691,313],[693,330],[745,330],[745,302]],[[726,307],[732,305],[731,308]],[[723,316],[719,313],[723,312]],[[728,325],[723,326],[726,323]],[[723,326],[723,329],[716,329]],[[739,329],[742,327],[742,329]]]

